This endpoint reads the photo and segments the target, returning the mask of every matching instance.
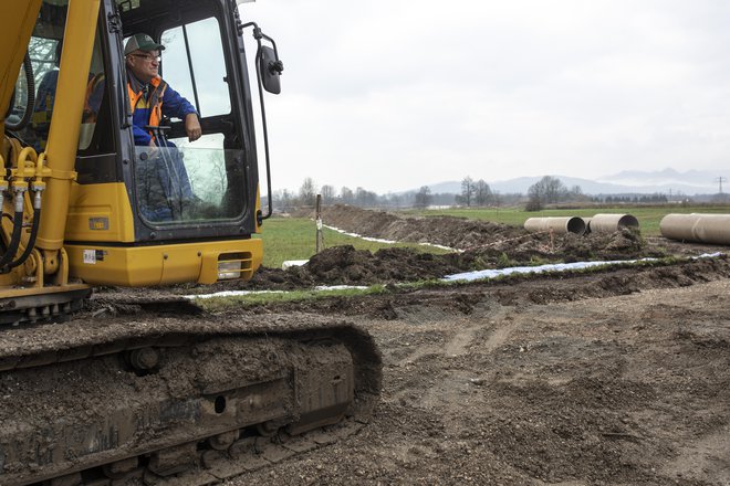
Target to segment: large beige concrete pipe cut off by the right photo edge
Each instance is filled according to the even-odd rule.
[[[659,223],[664,237],[730,244],[730,214],[667,214]]]

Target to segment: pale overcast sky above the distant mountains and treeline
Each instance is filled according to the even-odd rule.
[[[727,169],[730,2],[258,0],[274,189]],[[250,35],[250,33],[247,33]]]

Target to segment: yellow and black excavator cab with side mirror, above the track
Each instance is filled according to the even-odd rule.
[[[88,10],[79,4],[96,1],[93,32],[90,25],[69,23],[83,22],[69,14],[71,4],[83,17]],[[261,241],[251,235],[271,215],[271,205],[265,215],[260,208],[253,128],[258,114],[251,93],[258,85],[263,109],[262,88],[280,91],[283,66],[273,41],[254,23],[242,23],[234,0],[28,3],[33,2],[40,3],[39,13],[6,117],[0,156],[11,188],[38,182],[13,198],[24,199],[24,204],[6,199],[4,212],[13,214],[13,204],[31,208],[33,197],[42,201],[36,205],[43,212],[35,216],[31,209],[15,210],[14,218],[0,223],[6,253],[12,254],[7,260],[14,265],[0,261],[0,299],[3,286],[23,287],[20,294],[4,294],[14,299],[13,309],[53,314],[54,306],[64,305],[60,287],[66,284],[149,286],[250,278],[262,258]],[[255,80],[249,76],[242,38],[248,28],[259,44]],[[80,42],[87,41],[64,45],[69,32],[80,29],[93,38],[88,61],[77,54]],[[188,140],[184,120],[173,118],[145,128],[157,147],[135,145],[124,45],[138,33],[165,46],[159,74],[168,89],[195,106],[204,134],[196,141]],[[73,85],[63,81],[64,72],[66,78],[75,76]],[[58,113],[60,101],[70,104],[64,114]],[[265,137],[265,127],[263,133]],[[32,151],[22,152],[25,148]],[[21,152],[25,161],[19,159]],[[13,169],[21,166],[23,170]],[[21,219],[24,230],[15,228]],[[29,232],[32,225],[39,228]],[[15,257],[19,253],[28,254],[22,262]],[[55,294],[50,308],[48,296],[33,299],[49,292]],[[73,292],[65,304],[77,300],[82,288]]]

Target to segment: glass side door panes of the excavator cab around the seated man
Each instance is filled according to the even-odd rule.
[[[153,24],[146,19],[160,8],[159,2],[118,2],[125,42],[144,32],[165,45],[160,75],[168,89],[192,104],[202,126],[202,137],[190,141],[185,122],[173,117],[163,122],[167,127],[150,130],[156,139],[165,139],[157,148],[135,147],[138,213],[152,226],[233,221],[247,209],[246,151],[232,114],[216,3],[179,3],[180,14]],[[213,35],[221,41],[211,42]]]

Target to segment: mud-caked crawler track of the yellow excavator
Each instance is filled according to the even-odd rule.
[[[90,314],[3,329],[0,484],[216,484],[367,422],[382,363],[366,331],[251,320]]]

